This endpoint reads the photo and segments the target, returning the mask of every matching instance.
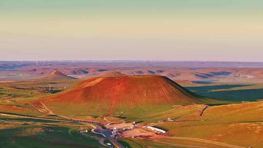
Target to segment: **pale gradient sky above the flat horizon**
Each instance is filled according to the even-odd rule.
[[[0,0],[0,60],[263,61],[263,0]]]

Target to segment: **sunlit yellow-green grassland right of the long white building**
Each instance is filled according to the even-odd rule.
[[[158,125],[172,136],[200,138],[231,145],[262,148],[263,102],[208,107],[194,120]],[[245,138],[244,138],[245,137]]]

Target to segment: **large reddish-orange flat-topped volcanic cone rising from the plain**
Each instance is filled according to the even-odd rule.
[[[189,105],[204,103],[203,100],[165,76],[136,75],[90,78],[70,90],[35,103],[43,102],[51,110],[63,106],[72,110],[98,109],[111,113],[124,107]]]

